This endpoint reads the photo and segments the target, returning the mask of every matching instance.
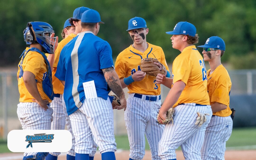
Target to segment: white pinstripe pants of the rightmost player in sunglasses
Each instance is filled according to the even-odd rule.
[[[206,127],[202,159],[225,159],[226,141],[232,133],[233,121],[230,116],[213,116]]]

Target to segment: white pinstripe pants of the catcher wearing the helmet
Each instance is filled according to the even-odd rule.
[[[17,115],[23,130],[50,130],[53,119],[52,108],[45,110],[36,102],[20,102]],[[50,106],[50,105],[49,105]],[[36,155],[37,152],[25,152],[24,156]]]

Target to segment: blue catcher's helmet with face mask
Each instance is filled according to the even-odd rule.
[[[31,27],[34,29],[35,35]],[[51,41],[50,35],[54,33],[51,25],[45,22],[29,22],[23,33],[27,45],[39,43],[44,48],[45,53],[54,54],[56,37],[52,37],[54,41]]]

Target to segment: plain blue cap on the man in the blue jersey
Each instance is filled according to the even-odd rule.
[[[81,22],[84,23],[103,23],[100,19],[100,14],[97,10],[89,9],[82,14]]]

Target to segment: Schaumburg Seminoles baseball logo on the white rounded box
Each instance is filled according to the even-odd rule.
[[[45,134],[45,133],[34,134],[33,136],[27,135],[26,142],[28,142],[28,145],[26,148],[28,148],[29,146],[31,146],[32,148],[32,143],[36,143],[36,142],[50,143],[51,140],[53,140],[53,135],[54,134]]]

